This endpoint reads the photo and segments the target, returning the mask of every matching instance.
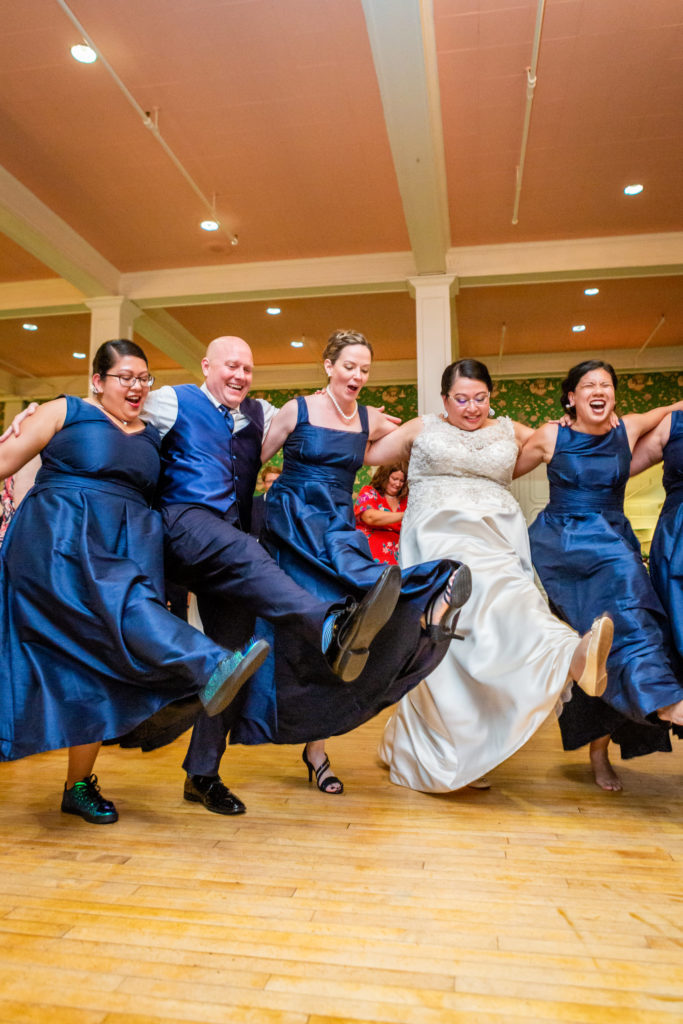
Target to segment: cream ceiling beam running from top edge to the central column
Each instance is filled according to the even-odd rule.
[[[417,272],[444,273],[451,245],[432,0],[362,0]]]

